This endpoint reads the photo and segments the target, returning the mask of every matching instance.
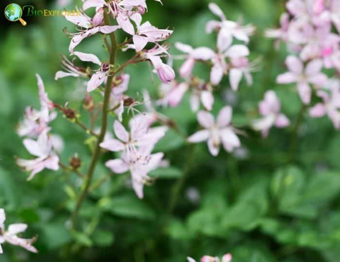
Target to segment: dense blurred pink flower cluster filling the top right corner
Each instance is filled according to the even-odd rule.
[[[293,55],[286,59],[288,72],[279,75],[277,83],[296,83],[302,102],[309,105],[313,93],[323,103],[310,109],[312,117],[327,114],[336,128],[340,127],[336,101],[339,85],[328,79],[324,69],[340,72],[340,1],[289,0],[287,13],[281,15],[279,29],[267,30],[265,35],[283,41]],[[325,93],[327,92],[327,93]],[[319,98],[319,99],[320,99]]]

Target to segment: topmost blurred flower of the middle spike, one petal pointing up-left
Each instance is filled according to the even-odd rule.
[[[221,21],[211,20],[206,24],[207,33],[211,33],[213,30],[219,30],[217,42],[233,39],[233,37],[245,43],[249,42],[249,36],[255,31],[253,25],[241,26],[237,22],[226,20],[223,11],[215,3],[210,3],[209,9],[221,19]]]

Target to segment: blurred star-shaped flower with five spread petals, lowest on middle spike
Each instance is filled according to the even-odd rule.
[[[221,109],[217,117],[217,123],[215,123],[212,114],[206,111],[199,111],[197,120],[204,129],[191,135],[187,140],[190,143],[199,143],[207,140],[209,152],[213,156],[219,154],[221,143],[227,152],[232,152],[241,143],[235,134],[235,129],[230,124],[231,118],[232,108],[229,106]]]

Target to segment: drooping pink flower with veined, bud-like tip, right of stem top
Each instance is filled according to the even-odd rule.
[[[175,79],[175,72],[171,66],[162,62],[160,56],[163,54],[168,54],[166,48],[163,46],[154,46],[152,49],[144,52],[143,57],[151,61],[159,79],[167,84]]]

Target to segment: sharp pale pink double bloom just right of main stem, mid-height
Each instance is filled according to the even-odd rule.
[[[107,161],[106,166],[115,173],[130,171],[136,195],[143,198],[143,186],[150,181],[147,174],[160,165],[164,155],[151,152],[157,141],[165,135],[167,127],[149,128],[147,119],[141,115],[130,120],[130,132],[119,121],[115,121],[113,129],[118,139],[106,139],[101,147],[120,152],[121,158]]]

